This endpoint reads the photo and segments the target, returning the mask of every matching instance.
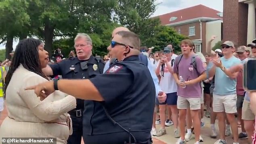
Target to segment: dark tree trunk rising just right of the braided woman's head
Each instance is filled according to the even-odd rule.
[[[48,51],[49,57],[52,56],[52,40],[53,40],[53,31],[54,31],[54,26],[50,25],[50,23],[46,22],[44,26],[44,48],[45,50]]]

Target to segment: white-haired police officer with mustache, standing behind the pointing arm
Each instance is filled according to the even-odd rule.
[[[89,79],[103,73],[104,61],[101,57],[91,56],[92,41],[85,33],[79,33],[75,38],[76,53],[78,57],[65,59],[60,63],[49,65],[44,69],[44,73],[51,75],[62,75],[63,79]],[[80,144],[83,129],[83,117],[87,117],[84,106],[93,103],[90,100],[76,100],[76,109],[69,111],[72,119],[73,134],[67,140],[68,144]],[[84,113],[83,113],[84,112]]]

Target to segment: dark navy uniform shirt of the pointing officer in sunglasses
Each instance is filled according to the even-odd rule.
[[[130,131],[137,143],[151,139],[155,86],[149,70],[138,56],[130,56],[115,63],[102,75],[90,79],[103,97],[103,102],[94,101],[85,105],[83,138],[86,144],[124,144],[129,134],[114,121]],[[131,138],[132,142],[133,139]]]

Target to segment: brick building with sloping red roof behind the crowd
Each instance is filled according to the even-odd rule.
[[[204,53],[206,52],[206,23],[222,20],[222,13],[199,4],[157,17],[162,25],[173,27],[179,34],[189,36],[195,43],[196,51]]]

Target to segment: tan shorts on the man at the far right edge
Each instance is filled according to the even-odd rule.
[[[243,100],[242,119],[248,121],[253,121],[255,119],[255,115],[250,109],[250,102],[248,100]]]

